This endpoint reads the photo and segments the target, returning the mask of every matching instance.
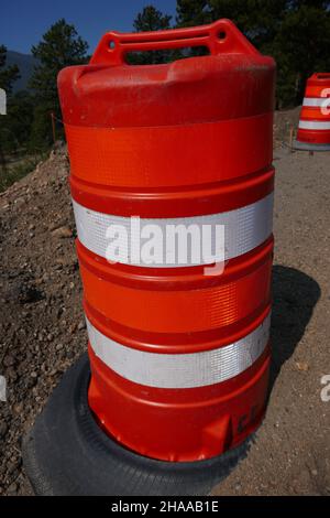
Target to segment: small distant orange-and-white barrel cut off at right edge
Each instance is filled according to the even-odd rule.
[[[330,74],[314,74],[306,86],[297,150],[330,151]]]

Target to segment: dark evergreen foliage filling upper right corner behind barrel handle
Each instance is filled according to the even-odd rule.
[[[277,106],[301,102],[306,79],[330,69],[330,0],[177,0],[177,24],[229,18],[277,62]]]

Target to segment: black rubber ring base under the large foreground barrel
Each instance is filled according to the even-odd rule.
[[[87,402],[89,378],[84,355],[23,440],[24,467],[36,495],[207,495],[249,450],[251,438],[208,461],[172,463],[138,455],[97,425]]]

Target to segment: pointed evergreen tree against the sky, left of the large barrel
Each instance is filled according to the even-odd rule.
[[[33,56],[38,60],[30,80],[36,101],[30,142],[32,148],[43,149],[52,142],[50,114],[53,111],[61,117],[57,74],[65,66],[86,63],[87,48],[87,42],[64,19],[54,23],[42,41],[32,47]]]

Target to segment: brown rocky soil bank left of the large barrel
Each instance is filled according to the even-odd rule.
[[[0,196],[0,494],[26,494],[22,434],[86,347],[64,150]]]

